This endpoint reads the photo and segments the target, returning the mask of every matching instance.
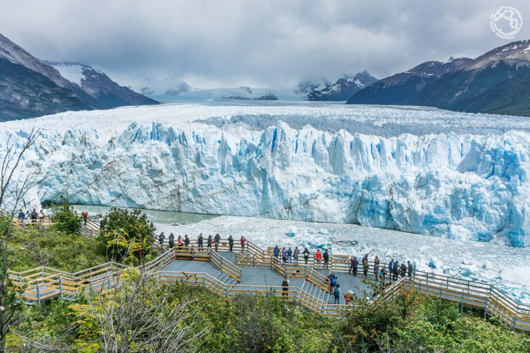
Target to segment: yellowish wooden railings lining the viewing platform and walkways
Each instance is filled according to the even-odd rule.
[[[196,242],[191,243],[191,246]],[[197,249],[197,248],[195,248]],[[219,250],[228,250],[226,240],[219,243]],[[305,278],[306,281],[317,286],[321,290],[328,292],[329,280],[311,266],[305,266],[302,261],[298,265],[293,263],[282,263],[268,252],[264,252],[251,242],[247,242],[241,252],[239,241],[235,242],[233,250],[236,251],[237,265],[270,266],[284,276],[293,278]],[[237,252],[239,250],[239,252]],[[206,285],[208,290],[215,294],[232,297],[243,292],[264,293],[271,289],[275,290],[275,295],[284,296],[286,299],[296,301],[308,309],[326,314],[340,314],[348,305],[331,305],[324,303],[312,294],[297,288],[289,287],[284,293],[281,287],[251,286],[251,285],[228,285],[213,276],[198,272],[164,272],[164,268],[173,257],[183,257],[194,260],[210,260],[217,265],[220,270],[241,282],[241,268],[230,263],[215,252],[190,250],[190,248],[175,249],[165,251],[155,260],[146,263],[139,270],[157,273],[163,281],[186,281]],[[336,272],[347,272],[349,270],[348,255],[333,255],[331,258],[331,270]],[[358,259],[360,260],[360,259]],[[348,261],[348,262],[346,262]],[[380,263],[386,268],[386,263]],[[359,266],[362,271],[362,265]],[[115,285],[119,280],[121,271],[128,268],[119,263],[104,263],[102,265],[82,270],[75,273],[63,272],[53,268],[39,267],[23,272],[9,272],[9,279],[15,288],[19,288],[21,296],[27,301],[38,302],[57,296],[75,298],[81,293],[92,295],[105,292]],[[369,262],[369,273],[373,273],[373,262]],[[303,273],[303,277],[302,274]],[[404,276],[393,282],[382,294],[374,300],[391,300],[404,289],[413,288],[419,292],[438,296],[440,299],[460,303],[462,307],[475,307],[484,310],[484,316],[495,316],[507,326],[530,331],[530,305],[523,305],[511,299],[507,294],[495,288],[493,285],[480,281],[468,281],[454,277],[431,274],[429,272],[415,271],[413,276]],[[282,295],[285,294],[285,295]]]

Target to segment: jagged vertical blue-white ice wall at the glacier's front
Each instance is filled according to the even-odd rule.
[[[37,152],[39,157],[37,158]],[[244,125],[70,128],[32,163],[41,201],[347,222],[530,245],[530,134],[380,137]]]

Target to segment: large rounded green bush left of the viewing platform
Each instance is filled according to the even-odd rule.
[[[113,260],[138,264],[154,251],[155,225],[140,210],[111,208],[99,230],[101,245]]]

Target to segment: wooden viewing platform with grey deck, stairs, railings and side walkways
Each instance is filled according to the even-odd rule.
[[[333,294],[329,293],[329,279],[326,274],[334,272],[343,294],[353,290],[356,295],[370,295],[370,287],[362,283],[362,265],[357,277],[348,273],[348,255],[333,254],[329,270],[316,270],[313,254],[308,265],[303,257],[299,263],[283,263],[270,250],[262,250],[247,241],[242,250],[235,241],[233,252],[228,251],[228,240],[219,243],[218,251],[198,250],[196,241],[188,249],[159,248],[157,259],[139,266],[138,270],[149,272],[161,281],[180,281],[203,285],[219,296],[230,299],[237,294],[271,293],[283,296],[288,301],[299,303],[308,310],[321,314],[341,314],[349,305],[334,305]],[[380,263],[387,267],[386,263]],[[129,268],[119,263],[104,263],[87,270],[70,273],[52,268],[40,267],[23,272],[9,272],[12,284],[21,289],[21,297],[28,303],[41,303],[61,297],[75,300],[77,296],[92,296],[105,293],[119,281],[121,272]],[[369,280],[373,279],[373,261],[369,261]],[[282,279],[287,276],[288,290],[282,288]],[[446,301],[460,303],[461,307],[484,310],[484,316],[495,316],[514,330],[530,332],[530,305],[523,305],[511,299],[498,288],[488,283],[467,281],[440,274],[415,271],[392,282],[382,294],[371,301],[392,300],[395,294],[405,289],[415,289],[424,294],[437,296]]]

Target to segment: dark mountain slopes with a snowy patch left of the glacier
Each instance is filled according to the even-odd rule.
[[[81,63],[50,63],[0,34],[0,121],[66,110],[158,104]]]

